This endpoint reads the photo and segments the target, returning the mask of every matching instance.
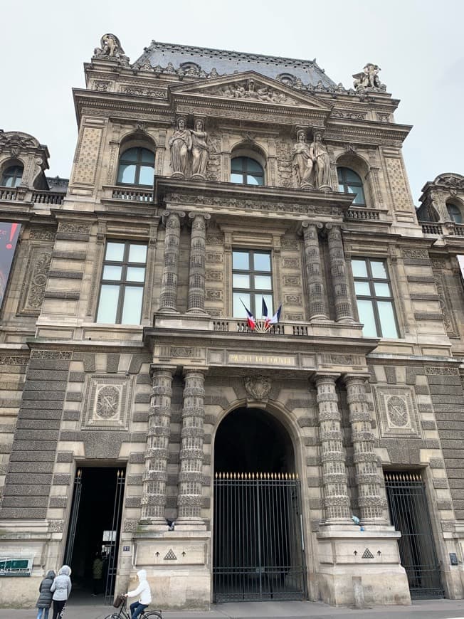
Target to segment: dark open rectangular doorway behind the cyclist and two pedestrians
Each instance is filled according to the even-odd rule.
[[[76,472],[64,561],[75,592],[112,599],[124,484],[122,467],[80,467]],[[101,578],[94,578],[99,572]]]

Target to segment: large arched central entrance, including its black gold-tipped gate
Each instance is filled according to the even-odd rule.
[[[306,598],[300,481],[288,431],[237,408],[214,443],[215,601]]]

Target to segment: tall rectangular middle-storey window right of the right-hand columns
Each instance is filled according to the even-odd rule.
[[[399,337],[385,260],[352,260],[359,322],[366,337]]]

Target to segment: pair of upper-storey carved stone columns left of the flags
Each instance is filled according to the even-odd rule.
[[[179,244],[182,211],[164,211],[166,238],[164,241],[164,269],[159,300],[160,312],[177,312],[177,284],[179,280]],[[209,213],[189,213],[191,219],[189,300],[187,312],[205,311],[206,221]]]

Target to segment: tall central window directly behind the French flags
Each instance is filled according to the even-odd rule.
[[[261,318],[262,300],[273,314],[273,274],[270,252],[238,249],[232,252],[233,316],[245,318],[248,307],[253,316]]]

